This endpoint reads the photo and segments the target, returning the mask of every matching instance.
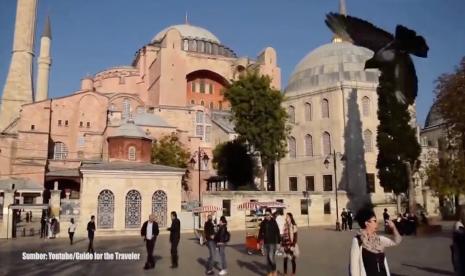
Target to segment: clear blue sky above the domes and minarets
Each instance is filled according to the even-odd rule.
[[[338,0],[39,0],[38,35],[45,17],[52,22],[50,96],[77,90],[80,79],[115,65],[130,64],[134,53],[163,28],[189,22],[215,34],[239,56],[255,58],[266,46],[278,53],[283,88],[309,51],[328,43],[324,16]],[[0,87],[3,91],[13,43],[16,1],[0,1]],[[418,121],[434,99],[434,81],[465,56],[463,0],[347,0],[350,15],[393,32],[403,24],[423,35],[427,59],[415,58],[419,78]],[[38,42],[36,40],[36,53]]]

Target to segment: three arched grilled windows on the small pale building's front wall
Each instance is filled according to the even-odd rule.
[[[141,226],[142,196],[137,190],[126,194],[125,227],[139,228]],[[152,214],[160,227],[166,226],[168,212],[168,197],[162,190],[152,195]],[[111,229],[114,226],[115,195],[110,190],[103,190],[98,196],[97,228]]]

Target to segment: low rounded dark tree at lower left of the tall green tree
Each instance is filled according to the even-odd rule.
[[[212,162],[218,175],[225,176],[234,189],[252,186],[256,160],[247,152],[247,146],[239,140],[218,144],[213,150]]]

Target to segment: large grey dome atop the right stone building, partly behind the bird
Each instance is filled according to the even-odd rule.
[[[329,43],[307,54],[295,67],[286,92],[334,86],[340,81],[378,82],[378,70],[364,70],[373,52],[348,42]]]

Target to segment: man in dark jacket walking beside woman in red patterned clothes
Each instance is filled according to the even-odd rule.
[[[278,224],[271,216],[270,208],[266,209],[265,219],[260,223],[258,240],[260,240],[263,244],[263,248],[265,250],[265,256],[268,264],[268,275],[277,275],[275,252],[277,245],[281,242],[281,235],[279,235]]]

